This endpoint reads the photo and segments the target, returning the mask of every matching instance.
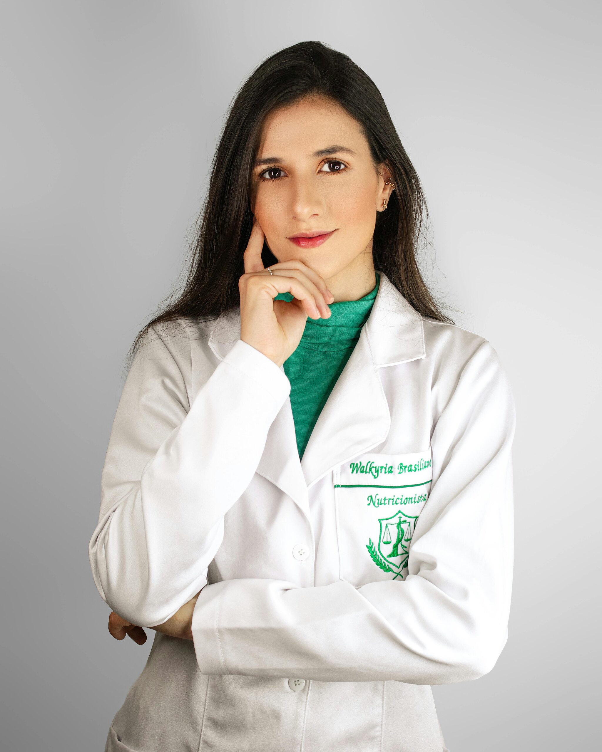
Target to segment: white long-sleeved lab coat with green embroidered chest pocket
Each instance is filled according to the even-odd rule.
[[[107,752],[442,752],[430,685],[506,644],[515,404],[489,341],[381,272],[302,461],[289,393],[239,308],[138,352],[94,581],[141,626],[208,585],[193,641],[155,632]]]

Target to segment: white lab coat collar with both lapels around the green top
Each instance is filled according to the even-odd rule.
[[[377,368],[424,358],[424,325],[382,271],[360,337],[339,375],[299,460],[290,399],[270,426],[257,472],[287,493],[311,520],[308,489],[334,467],[382,444],[391,414]],[[240,338],[240,308],[221,314],[209,347],[223,359]],[[284,371],[284,366],[280,366]]]

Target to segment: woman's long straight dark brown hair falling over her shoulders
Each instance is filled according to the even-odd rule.
[[[138,332],[129,361],[151,325],[198,317],[211,320],[240,304],[242,254],[253,222],[251,174],[263,123],[272,111],[301,99],[329,99],[345,109],[359,123],[375,168],[386,160],[396,188],[387,211],[377,213],[372,241],[375,269],[384,271],[420,314],[454,323],[439,310],[418,268],[418,247],[422,238],[427,240],[427,205],[379,89],[344,53],[319,41],[305,41],[262,62],[233,99],[196,220],[184,285]],[[265,243],[262,259],[265,266],[278,262]]]

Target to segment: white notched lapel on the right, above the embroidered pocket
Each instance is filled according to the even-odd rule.
[[[381,274],[370,315],[322,408],[301,460],[307,486],[382,444],[391,427],[378,368],[424,357],[422,317]]]

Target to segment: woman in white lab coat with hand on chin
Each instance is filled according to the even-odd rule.
[[[156,633],[106,750],[445,750],[430,685],[508,636],[515,406],[425,213],[347,56],[254,71],[111,430],[90,563],[111,633]]]

